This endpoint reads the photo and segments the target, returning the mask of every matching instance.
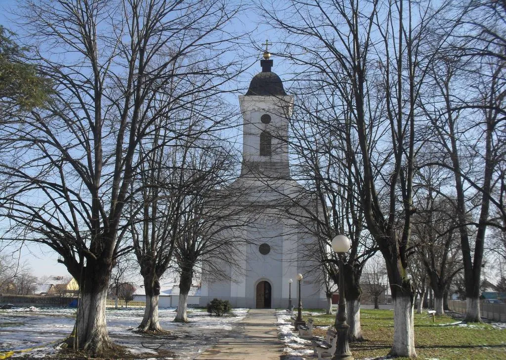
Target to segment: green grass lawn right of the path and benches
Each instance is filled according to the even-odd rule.
[[[394,337],[394,312],[389,310],[361,310],[363,342],[351,343],[356,359],[385,356]],[[307,318],[308,316],[304,316]],[[315,325],[332,325],[335,315],[316,315]],[[449,316],[432,317],[415,314],[415,347],[419,359],[506,359],[506,330],[488,324],[449,325],[457,322]],[[399,359],[403,359],[399,357]]]

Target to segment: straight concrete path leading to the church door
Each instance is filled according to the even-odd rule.
[[[250,309],[229,337],[196,357],[199,360],[279,360],[282,343],[274,325],[276,310]]]

